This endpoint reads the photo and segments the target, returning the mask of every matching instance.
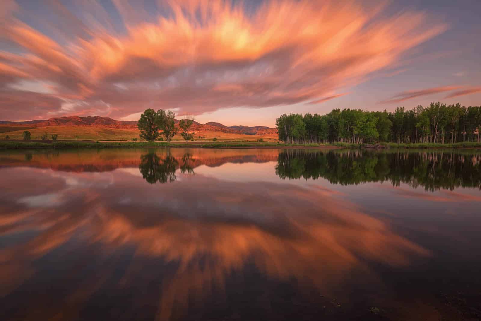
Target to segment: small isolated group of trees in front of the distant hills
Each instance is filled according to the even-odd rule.
[[[155,141],[160,135],[165,136],[165,140],[170,142],[172,138],[177,134],[179,128],[181,130],[180,135],[189,141],[194,137],[194,132],[189,132],[190,126],[194,123],[194,118],[187,116],[185,119],[179,121],[179,126],[175,125],[176,113],[169,110],[165,112],[163,109],[157,110],[146,109],[137,122],[137,128],[140,130],[140,138],[146,141]]]

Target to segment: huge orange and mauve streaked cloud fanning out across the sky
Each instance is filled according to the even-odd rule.
[[[0,119],[64,116],[63,100],[77,101],[71,115],[87,105],[116,118],[146,108],[196,115],[322,102],[446,29],[425,13],[388,15],[355,1],[266,1],[246,12],[241,4],[190,0],[163,3],[158,14],[114,1],[125,29],[116,31],[117,14],[87,1],[72,12],[52,2],[59,14],[42,33],[16,18],[22,8],[12,3],[0,4],[0,38],[19,49],[0,51],[0,89],[10,95]],[[11,86],[25,80],[51,84],[51,104],[17,102]],[[19,104],[23,111],[12,113]]]

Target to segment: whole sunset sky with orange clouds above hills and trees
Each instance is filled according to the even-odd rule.
[[[2,0],[0,120],[481,104],[481,1]]]

